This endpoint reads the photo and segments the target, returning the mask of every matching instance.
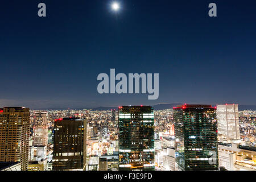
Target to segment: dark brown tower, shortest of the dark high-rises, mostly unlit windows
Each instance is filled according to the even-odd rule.
[[[55,119],[53,170],[85,170],[86,120],[79,118]]]

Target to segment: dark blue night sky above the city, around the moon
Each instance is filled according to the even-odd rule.
[[[117,1],[118,14],[112,0],[2,0],[0,106],[256,104],[255,0]],[[98,94],[97,76],[110,68],[159,73],[158,100]]]

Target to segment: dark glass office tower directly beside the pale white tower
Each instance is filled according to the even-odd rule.
[[[174,107],[177,170],[218,170],[216,108]]]

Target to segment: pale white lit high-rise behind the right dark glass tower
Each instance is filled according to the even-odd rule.
[[[224,140],[240,139],[238,105],[217,105],[218,135]]]

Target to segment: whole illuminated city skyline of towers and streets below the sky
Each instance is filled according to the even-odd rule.
[[[256,110],[234,104],[3,107],[0,120],[0,171],[256,170]]]

